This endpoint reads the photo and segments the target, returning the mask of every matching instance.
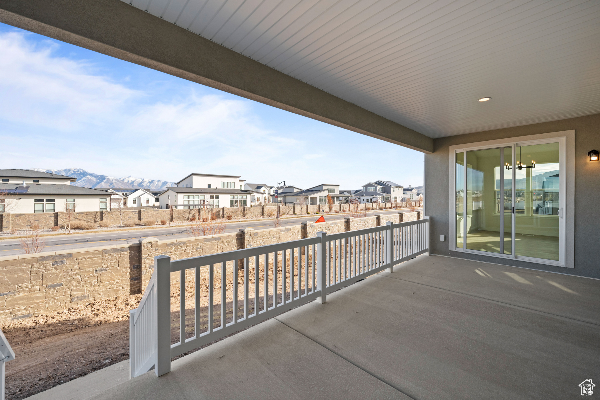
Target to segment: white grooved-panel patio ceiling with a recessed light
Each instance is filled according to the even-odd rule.
[[[600,112],[598,0],[124,1],[430,137]]]

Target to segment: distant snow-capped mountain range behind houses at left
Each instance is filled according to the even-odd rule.
[[[149,190],[162,190],[168,186],[175,186],[174,182],[160,181],[159,179],[140,179],[133,176],[125,178],[113,178],[112,176],[99,175],[80,168],[66,168],[62,170],[46,170],[32,168],[40,172],[50,172],[58,175],[73,176],[77,178],[71,185],[85,188],[144,188]]]

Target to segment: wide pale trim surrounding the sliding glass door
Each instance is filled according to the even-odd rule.
[[[565,149],[563,151],[565,162],[564,162],[564,171],[565,171],[565,179],[564,179],[564,191],[563,193],[575,193],[575,130],[570,131],[560,131],[560,132],[551,132],[551,133],[542,133],[536,135],[529,136],[517,136],[517,137],[508,137],[506,139],[496,139],[496,140],[486,140],[484,142],[474,142],[474,143],[463,143],[461,145],[453,145],[449,146],[449,193],[448,193],[448,250],[462,252],[463,249],[456,248],[456,219],[455,219],[455,153],[460,149],[469,149],[474,150],[478,148],[494,148],[500,146],[512,146],[514,143],[519,143],[520,145],[524,145],[528,142],[538,142],[540,140],[548,140],[548,139],[556,139],[560,140],[564,143]],[[563,170],[563,166],[561,166],[561,170]],[[562,173],[562,171],[561,171]],[[561,180],[563,181],[563,180]],[[575,254],[574,254],[574,245],[575,245],[575,199],[572,196],[563,196],[563,201],[565,201],[565,218],[564,219],[564,229],[565,229],[565,245],[563,246],[563,251],[565,253],[564,264],[551,261],[551,260],[541,260],[536,258],[514,258],[512,256],[506,256],[503,254],[494,254],[488,252],[481,251],[469,251],[469,253],[473,254],[482,254],[487,255],[488,257],[496,257],[496,258],[509,258],[511,260],[521,260],[530,263],[536,264],[547,264],[552,266],[560,266],[567,268],[575,267]]]

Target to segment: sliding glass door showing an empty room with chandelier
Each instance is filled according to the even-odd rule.
[[[561,145],[455,153],[455,243],[469,252],[561,260]]]

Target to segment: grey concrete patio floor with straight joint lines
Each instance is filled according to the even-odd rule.
[[[570,399],[586,379],[600,381],[600,280],[422,255],[175,360],[162,377],[89,397],[74,380],[34,397]]]

